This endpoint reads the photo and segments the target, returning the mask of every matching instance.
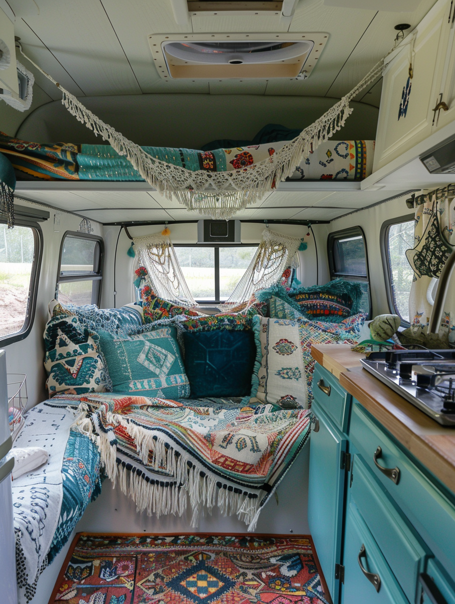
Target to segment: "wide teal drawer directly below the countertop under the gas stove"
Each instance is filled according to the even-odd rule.
[[[350,418],[350,439],[373,475],[401,507],[450,576],[455,576],[455,506],[428,480],[383,428],[355,401]],[[376,466],[398,468],[397,484]]]

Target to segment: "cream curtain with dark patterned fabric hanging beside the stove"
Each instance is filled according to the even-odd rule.
[[[455,246],[455,185],[408,200],[415,207],[414,248],[406,257],[414,271],[409,297],[409,320],[415,335],[427,333],[437,279]],[[454,281],[454,280],[452,280]],[[446,298],[439,338],[455,342],[455,283]]]

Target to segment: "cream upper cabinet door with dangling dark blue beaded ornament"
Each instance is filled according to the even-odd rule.
[[[450,37],[445,27],[450,8],[451,0],[438,0],[401,42],[384,71],[373,172],[434,131],[432,110],[444,71],[442,47]]]

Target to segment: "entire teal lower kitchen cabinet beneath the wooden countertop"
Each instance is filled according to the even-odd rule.
[[[455,494],[318,364],[313,393],[308,520],[334,604],[455,604]]]

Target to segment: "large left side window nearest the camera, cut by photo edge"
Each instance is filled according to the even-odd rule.
[[[39,226],[0,220],[0,346],[25,338],[34,318],[42,256]]]

